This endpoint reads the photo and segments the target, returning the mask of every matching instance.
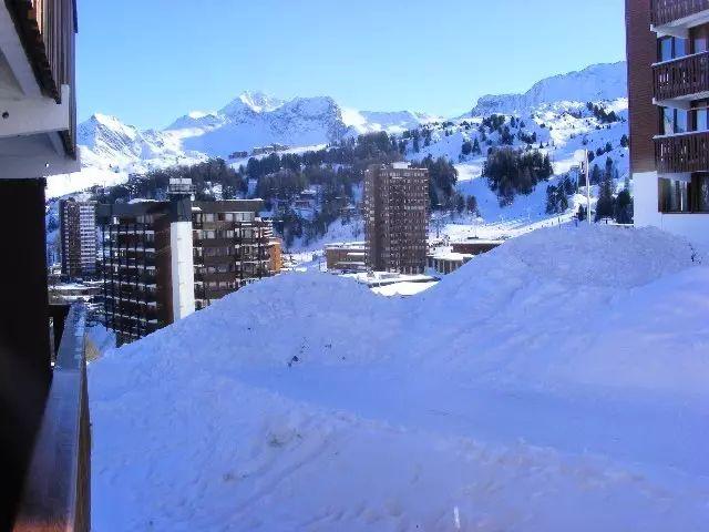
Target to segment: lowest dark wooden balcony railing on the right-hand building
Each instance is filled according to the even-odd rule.
[[[655,139],[655,161],[660,174],[709,171],[709,132]]]

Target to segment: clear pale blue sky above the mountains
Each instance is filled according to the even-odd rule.
[[[623,0],[79,0],[79,113],[142,129],[245,90],[462,114],[623,60]]]

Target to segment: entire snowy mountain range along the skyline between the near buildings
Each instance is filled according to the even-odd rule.
[[[472,115],[534,116],[534,122],[527,120],[527,130],[549,142],[549,150],[565,149],[555,157],[558,162],[568,160],[572,147],[577,149],[582,140],[594,150],[610,141],[615,146],[626,125],[614,127],[609,134],[605,127],[597,127],[597,122],[587,116],[575,119],[569,112],[583,113],[585,102],[597,102],[625,116],[625,63],[598,64],[542,80],[524,94],[483,96]],[[466,113],[453,120],[458,125],[445,131],[442,117],[425,113],[359,111],[343,108],[329,96],[285,101],[263,92],[244,92],[218,111],[187,113],[162,131],[140,131],[117,117],[95,114],[79,126],[84,170],[50,180],[49,195],[120,183],[131,173],[154,167],[195,164],[209,157],[228,160],[235,152],[251,153],[255,147],[274,143],[302,150],[379,131],[400,135],[407,130],[433,129],[433,143],[421,153],[408,153],[407,158],[431,154],[455,161],[461,144],[473,136],[461,126],[470,122],[470,116]],[[469,170],[464,168],[466,175]]]

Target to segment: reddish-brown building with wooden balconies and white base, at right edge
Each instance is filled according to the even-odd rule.
[[[626,0],[635,223],[709,242],[709,0]]]

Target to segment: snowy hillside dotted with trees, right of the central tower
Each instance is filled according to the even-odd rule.
[[[585,205],[585,197],[569,198],[569,208],[564,213],[546,213],[546,187],[558,185],[561,178],[578,164],[576,152],[593,152],[600,172],[606,161],[613,161],[617,171],[616,186],[625,186],[629,177],[629,151],[625,141],[628,134],[628,101],[626,98],[626,63],[598,64],[579,72],[553,76],[536,83],[525,94],[485,96],[466,115],[448,121],[422,117],[418,129],[420,136],[418,151],[415,143],[408,141],[404,157],[421,161],[427,156],[444,157],[455,163],[459,173],[458,192],[475,196],[480,217],[451,216],[431,224],[434,236],[448,235],[460,239],[469,236],[506,237],[548,225],[566,223]],[[587,104],[592,103],[605,113],[615,113],[616,120],[604,121]],[[502,116],[499,130],[483,127],[483,122],[492,115]],[[507,129],[513,136],[511,147],[526,150],[533,147],[548,154],[555,177],[541,183],[530,195],[517,194],[510,205],[490,190],[482,176],[490,147],[505,146],[501,131]],[[483,133],[484,131],[484,133]],[[428,140],[425,137],[428,136]],[[534,139],[534,142],[530,142]],[[477,142],[480,154],[463,154],[465,143]],[[595,205],[597,187],[592,191]],[[440,223],[439,223],[440,222]],[[315,249],[329,242],[342,239],[343,235],[357,234],[360,227],[336,223],[318,242],[310,242],[304,249]],[[298,246],[296,246],[296,249]]]

